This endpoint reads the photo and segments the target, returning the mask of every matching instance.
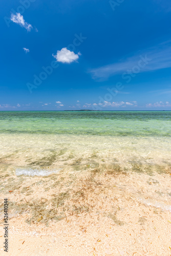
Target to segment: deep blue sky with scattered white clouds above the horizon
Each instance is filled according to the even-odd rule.
[[[170,1],[0,5],[0,110],[171,110]]]

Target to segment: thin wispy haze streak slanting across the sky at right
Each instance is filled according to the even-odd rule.
[[[91,69],[89,72],[92,74],[93,79],[108,79],[111,76],[123,74],[130,69],[132,70],[137,66],[141,67],[140,71],[137,73],[170,68],[170,41],[163,42],[162,44],[159,44],[153,48],[146,49],[144,51],[136,53],[129,58],[119,60],[118,62],[115,62],[113,64]]]

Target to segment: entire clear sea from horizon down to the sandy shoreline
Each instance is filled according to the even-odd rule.
[[[171,112],[0,112],[0,163],[34,175],[170,166]]]

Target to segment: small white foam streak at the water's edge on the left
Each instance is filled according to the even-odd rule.
[[[60,168],[61,169],[61,168]],[[15,170],[16,176],[19,175],[26,175],[26,176],[49,176],[51,174],[56,174],[59,172],[59,170],[47,170],[47,169],[23,169],[23,168],[18,168]]]

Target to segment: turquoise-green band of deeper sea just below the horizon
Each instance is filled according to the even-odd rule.
[[[0,112],[0,133],[171,136],[169,111]]]

